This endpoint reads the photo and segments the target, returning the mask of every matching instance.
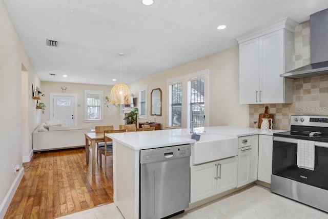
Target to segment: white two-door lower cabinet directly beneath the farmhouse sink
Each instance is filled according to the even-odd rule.
[[[236,188],[237,157],[191,166],[190,203]]]

